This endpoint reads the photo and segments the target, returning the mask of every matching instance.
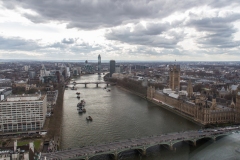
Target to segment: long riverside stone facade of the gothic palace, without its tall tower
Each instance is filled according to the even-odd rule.
[[[187,100],[181,98],[172,98],[167,94],[156,91],[154,87],[148,87],[147,98],[157,99],[161,102],[174,107],[175,110],[180,111],[190,117],[194,121],[200,122],[203,125],[220,124],[220,123],[240,123],[240,90],[237,95],[236,105],[231,107],[217,107],[216,99],[212,102],[206,100],[204,96],[198,96],[194,100]]]

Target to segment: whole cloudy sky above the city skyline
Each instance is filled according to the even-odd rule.
[[[0,59],[240,60],[239,0],[2,0]]]

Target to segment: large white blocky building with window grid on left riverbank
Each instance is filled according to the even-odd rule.
[[[47,96],[11,95],[0,102],[0,131],[18,132],[43,128]]]

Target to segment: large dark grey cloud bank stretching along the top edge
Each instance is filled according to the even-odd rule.
[[[118,26],[141,19],[161,19],[174,12],[184,12],[196,6],[225,7],[238,2],[226,0],[222,3],[216,0],[24,0],[2,3],[9,9],[23,7],[37,12],[38,15],[23,14],[34,23],[58,21],[67,23],[67,28],[91,30]]]

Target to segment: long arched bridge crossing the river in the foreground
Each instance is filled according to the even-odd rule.
[[[239,132],[240,127],[227,127],[216,129],[193,130],[186,132],[168,133],[156,136],[115,141],[111,143],[102,143],[93,146],[83,146],[68,150],[61,150],[51,153],[42,153],[41,159],[84,159],[98,155],[112,155],[117,160],[118,155],[124,151],[137,150],[140,154],[146,155],[147,149],[156,145],[163,145],[170,150],[176,149],[174,145],[179,142],[187,142],[197,145],[197,141],[203,138],[215,141],[218,137],[229,135],[233,132]]]

